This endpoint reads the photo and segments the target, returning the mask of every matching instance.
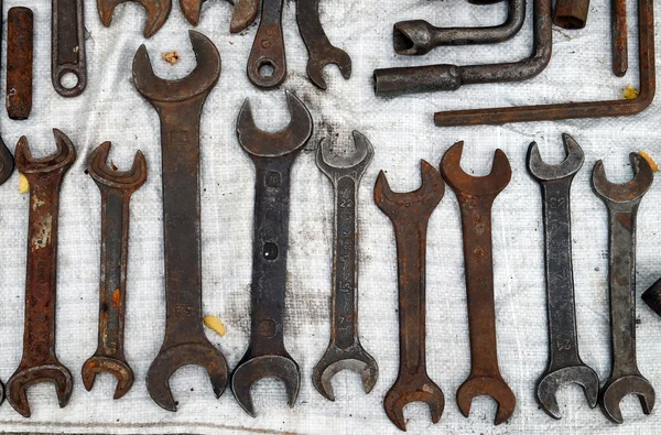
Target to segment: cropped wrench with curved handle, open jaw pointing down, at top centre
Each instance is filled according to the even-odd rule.
[[[319,0],[299,0],[296,2],[296,22],[301,37],[307,47],[307,77],[318,88],[326,89],[326,80],[322,74],[324,67],[335,64],[342,76],[351,76],[351,58],[337,48],[326,36],[319,21]]]

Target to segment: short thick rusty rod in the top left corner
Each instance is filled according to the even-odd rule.
[[[32,110],[32,11],[11,8],[7,13],[7,115],[28,119]]]

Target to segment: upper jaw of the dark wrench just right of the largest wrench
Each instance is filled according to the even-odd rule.
[[[237,118],[239,144],[249,154],[259,157],[279,157],[302,149],[312,135],[313,121],[310,111],[294,94],[285,90],[290,123],[277,132],[260,130],[254,124],[250,100],[246,99]]]

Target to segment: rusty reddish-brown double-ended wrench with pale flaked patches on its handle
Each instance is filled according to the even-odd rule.
[[[59,407],[67,405],[74,388],[72,373],[55,354],[55,306],[59,186],[76,160],[76,150],[62,131],[53,129],[53,134],[57,144],[54,155],[33,159],[25,137],[15,151],[17,166],[30,182],[30,217],[23,356],[7,382],[7,392],[9,403],[24,417],[30,416],[25,390],[31,385],[54,383]]]

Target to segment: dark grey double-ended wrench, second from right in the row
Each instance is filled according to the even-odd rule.
[[[537,385],[542,409],[560,418],[557,390],[566,383],[583,387],[590,407],[597,405],[599,378],[578,354],[574,278],[572,271],[572,230],[570,188],[583,166],[584,154],[568,134],[562,135],[566,159],[550,165],[542,161],[535,142],[528,150],[528,172],[540,184],[544,216],[544,260],[549,316],[549,366]]]

